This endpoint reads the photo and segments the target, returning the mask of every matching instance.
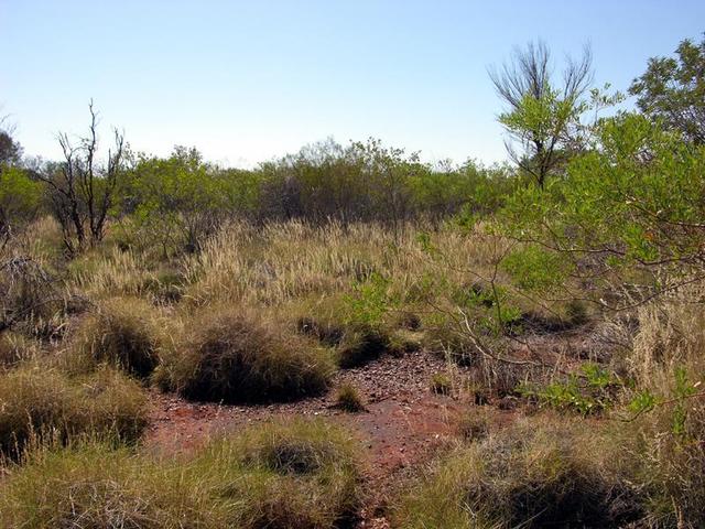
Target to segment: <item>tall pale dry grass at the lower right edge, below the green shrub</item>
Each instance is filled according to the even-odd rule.
[[[705,527],[703,301],[701,282],[641,306],[632,352],[622,360],[636,380],[626,399],[650,393],[655,402],[616,438],[640,462],[639,481],[649,496],[653,526]]]

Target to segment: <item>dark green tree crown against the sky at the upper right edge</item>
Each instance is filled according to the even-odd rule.
[[[652,57],[631,84],[637,107],[651,119],[679,130],[694,143],[705,143],[705,39],[681,42],[674,57]]]

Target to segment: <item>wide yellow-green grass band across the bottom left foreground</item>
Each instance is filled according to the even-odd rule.
[[[40,451],[0,483],[0,526],[333,529],[359,507],[357,458],[343,430],[303,421],[162,460],[97,443]]]

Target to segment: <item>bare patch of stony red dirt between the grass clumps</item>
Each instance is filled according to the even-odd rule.
[[[389,527],[383,516],[388,492],[408,472],[419,468],[454,435],[454,422],[467,404],[431,392],[433,374],[447,370],[429,353],[383,357],[365,367],[339,371],[322,397],[269,406],[194,403],[173,395],[153,393],[152,427],[147,446],[158,451],[191,450],[221,432],[248,423],[292,415],[324,415],[348,427],[367,449],[365,472],[370,501],[359,527]],[[346,413],[335,407],[335,388],[354,385],[366,411]]]

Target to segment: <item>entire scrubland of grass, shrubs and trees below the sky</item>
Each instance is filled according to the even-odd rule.
[[[496,166],[6,127],[0,527],[705,527],[705,41],[644,68],[517,51]]]

